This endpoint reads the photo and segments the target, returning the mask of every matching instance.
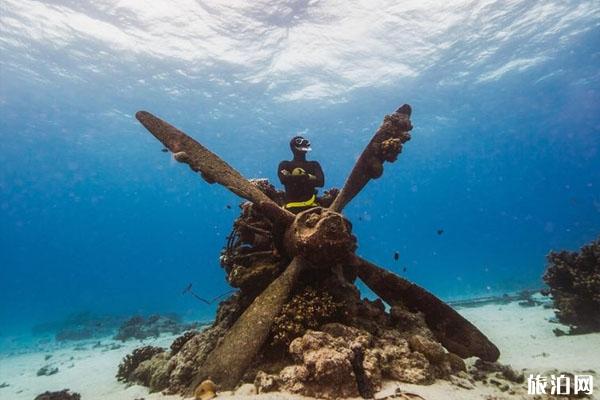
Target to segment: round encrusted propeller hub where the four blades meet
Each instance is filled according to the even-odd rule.
[[[317,267],[344,262],[356,250],[350,221],[322,207],[296,215],[286,232],[285,242],[291,256],[301,255]]]

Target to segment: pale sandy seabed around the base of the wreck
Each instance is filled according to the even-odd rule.
[[[526,376],[541,374],[549,377],[556,370],[593,375],[594,395],[591,398],[598,398],[600,333],[556,337],[552,329],[566,327],[549,322],[554,316],[551,309],[541,306],[524,308],[517,302],[463,308],[459,312],[498,346],[501,352],[499,362],[523,371]],[[180,399],[180,396],[148,393],[145,387],[127,386],[115,378],[121,359],[134,348],[150,344],[168,347],[173,339],[173,336],[162,336],[150,341],[120,343],[106,338],[100,344],[94,340],[58,347],[48,342],[36,344],[35,349],[11,352],[0,349],[0,386],[8,385],[0,388],[0,399],[33,400],[47,390],[62,389],[80,393],[82,400]],[[37,371],[45,365],[58,368],[58,372],[37,376]],[[526,383],[522,386],[526,388]],[[375,398],[386,398],[398,389],[427,400],[535,398],[527,394],[511,395],[493,385],[476,383],[474,388],[466,389],[443,380],[429,386],[387,382]],[[249,396],[232,392],[221,393],[218,398],[306,399],[284,393]]]

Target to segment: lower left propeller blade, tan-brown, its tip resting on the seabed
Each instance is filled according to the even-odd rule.
[[[211,379],[226,390],[237,385],[267,340],[273,320],[289,300],[300,272],[308,265],[308,261],[296,256],[286,270],[254,299],[208,355],[188,388],[190,393],[204,379]]]

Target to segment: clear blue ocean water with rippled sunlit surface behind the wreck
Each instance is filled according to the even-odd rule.
[[[278,186],[300,132],[341,187],[411,104],[412,140],[345,213],[359,254],[444,299],[540,287],[550,250],[600,234],[597,1],[249,3],[2,0],[0,335],[214,314],[182,290],[229,289],[239,199],[141,109]]]

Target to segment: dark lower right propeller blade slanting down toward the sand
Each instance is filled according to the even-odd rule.
[[[411,311],[422,312],[448,351],[491,362],[500,357],[498,348],[479,329],[427,290],[360,257],[355,258],[354,265],[359,278],[386,303],[402,303]]]

